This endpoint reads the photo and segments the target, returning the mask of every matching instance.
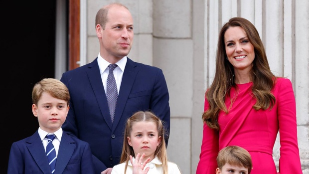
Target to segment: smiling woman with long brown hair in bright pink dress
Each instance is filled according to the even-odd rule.
[[[202,118],[196,174],[214,174],[218,152],[233,145],[250,153],[251,174],[303,174],[292,83],[271,72],[259,33],[245,18],[231,18],[220,31],[215,77],[205,93]],[[279,171],[273,160],[278,132]]]

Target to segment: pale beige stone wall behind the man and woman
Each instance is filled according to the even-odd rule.
[[[99,53],[95,14],[118,1],[131,10],[134,46],[129,57],[163,70],[171,108],[169,160],[195,174],[199,160],[204,92],[214,75],[218,31],[230,17],[253,22],[265,43],[271,69],[294,85],[300,156],[309,174],[309,1],[308,0],[82,0],[81,33],[86,63]],[[82,3],[83,4],[83,3]],[[82,17],[81,17],[82,18]],[[279,139],[274,149],[278,164]]]

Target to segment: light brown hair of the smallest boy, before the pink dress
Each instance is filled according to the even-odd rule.
[[[250,174],[252,169],[251,155],[247,150],[239,146],[227,146],[223,148],[217,156],[218,168],[222,170],[225,164],[245,167]]]

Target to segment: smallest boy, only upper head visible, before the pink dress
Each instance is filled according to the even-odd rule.
[[[251,155],[239,146],[227,146],[217,156],[216,174],[250,174]]]

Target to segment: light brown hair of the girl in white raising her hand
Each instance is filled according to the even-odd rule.
[[[161,143],[156,147],[154,155],[162,162],[162,174],[167,174],[167,153],[166,144],[164,141],[165,128],[163,122],[154,115],[151,111],[138,111],[127,119],[125,132],[124,132],[124,143],[122,148],[122,154],[120,159],[120,164],[127,162],[125,167],[125,172],[127,171],[128,162],[130,160],[130,155],[135,157],[133,148],[129,145],[127,137],[131,136],[132,127],[138,122],[154,122],[157,128],[158,137],[161,136]]]

